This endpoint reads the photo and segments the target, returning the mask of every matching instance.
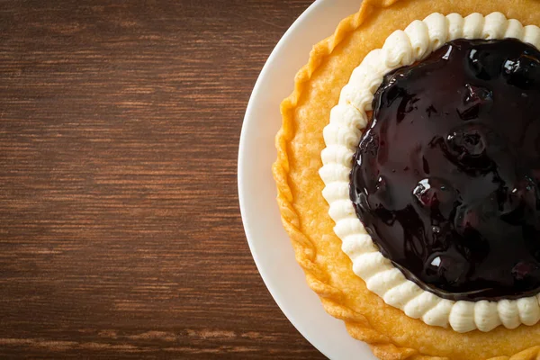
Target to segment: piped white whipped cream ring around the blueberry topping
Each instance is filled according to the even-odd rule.
[[[353,271],[387,304],[410,318],[431,326],[450,326],[460,333],[474,329],[487,332],[500,325],[508,329],[535,325],[540,320],[540,294],[499,302],[455,302],[421,289],[383,257],[356,217],[349,198],[353,156],[368,123],[366,112],[372,110],[374,93],[383,83],[383,76],[460,38],[516,38],[540,49],[540,28],[523,26],[500,13],[485,17],[478,13],[466,17],[434,13],[410,23],[404,31],[394,31],[383,49],[372,50],[356,67],[341,90],[338,105],[330,112],[329,125],[323,130],[327,148],[321,152],[323,166],[319,173],[326,185],[322,194],[329,202],[329,215],[336,222],[334,232],[343,241],[342,250],[353,262]]]

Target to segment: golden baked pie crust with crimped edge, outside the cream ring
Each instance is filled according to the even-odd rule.
[[[293,94],[281,104],[283,126],[276,136],[273,172],[296,260],[326,311],[344,320],[349,334],[384,360],[540,360],[540,324],[460,334],[428,326],[385,304],[353,273],[321,193],[322,130],[341,88],[365,55],[382,48],[393,31],[428,14],[492,12],[540,25],[539,0],[364,0],[358,13],[313,47],[308,64],[295,76]]]

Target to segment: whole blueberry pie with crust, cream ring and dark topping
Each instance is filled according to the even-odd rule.
[[[540,359],[540,2],[364,0],[282,103],[308,284],[382,359]]]

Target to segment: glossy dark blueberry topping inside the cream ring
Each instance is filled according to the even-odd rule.
[[[454,40],[384,77],[350,196],[383,255],[451,300],[540,292],[540,51]]]

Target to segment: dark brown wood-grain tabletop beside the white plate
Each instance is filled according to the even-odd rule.
[[[236,180],[251,89],[311,1],[0,3],[0,358],[321,358]]]

